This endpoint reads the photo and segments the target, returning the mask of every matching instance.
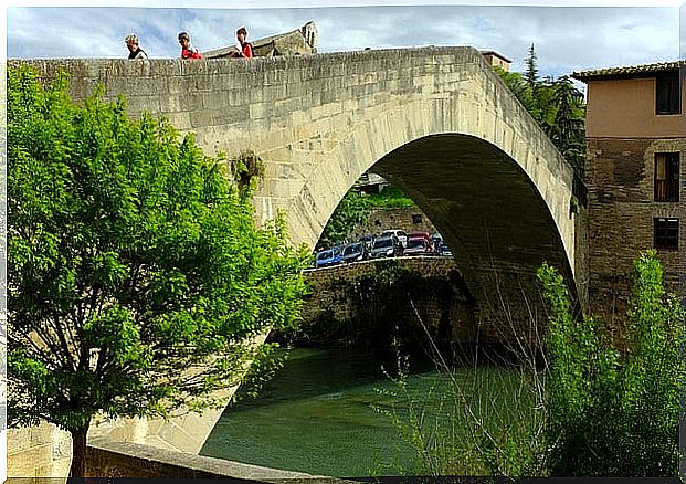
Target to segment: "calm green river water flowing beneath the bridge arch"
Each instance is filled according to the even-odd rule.
[[[442,396],[454,385],[430,361],[415,358],[410,362],[405,392],[384,376],[382,365],[397,368],[393,359],[370,353],[291,350],[256,400],[224,411],[201,454],[340,477],[415,474],[415,452],[383,411],[407,421],[414,408],[410,401],[420,399],[425,423],[435,425],[448,419]],[[487,375],[493,371],[499,372],[479,370],[481,380],[500,391],[502,382]],[[461,386],[469,396],[493,390],[482,386],[474,392],[474,379],[469,381]],[[484,400],[492,401],[489,397]],[[437,427],[451,428],[447,422]]]

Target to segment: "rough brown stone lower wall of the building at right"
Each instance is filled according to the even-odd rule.
[[[655,152],[680,152],[680,202],[654,201]],[[633,261],[653,246],[653,219],[679,219],[678,250],[659,250],[667,287],[686,298],[686,138],[589,139],[591,309],[623,318]]]

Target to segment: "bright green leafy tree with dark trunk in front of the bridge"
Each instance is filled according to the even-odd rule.
[[[8,417],[71,432],[80,476],[96,413],[219,404],[296,324],[306,255],[192,136],[67,87],[8,70]]]

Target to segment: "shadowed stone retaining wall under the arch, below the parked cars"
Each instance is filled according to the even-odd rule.
[[[517,327],[477,322],[472,296],[451,257],[381,259],[312,270],[298,344],[428,345],[468,358],[477,345],[530,348],[529,319]],[[540,328],[537,328],[537,330]]]

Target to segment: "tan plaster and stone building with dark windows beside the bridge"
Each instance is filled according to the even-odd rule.
[[[655,248],[686,301],[686,61],[573,73],[587,84],[589,298],[625,314],[633,261]]]

